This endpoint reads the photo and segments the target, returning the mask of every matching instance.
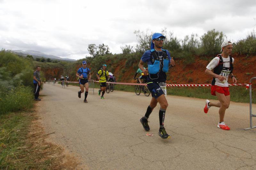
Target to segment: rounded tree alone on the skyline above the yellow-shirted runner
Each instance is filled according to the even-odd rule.
[[[89,51],[89,54],[93,57],[111,54],[109,52],[108,45],[104,44],[100,44],[99,46],[96,46],[95,44],[89,44],[87,50]]]

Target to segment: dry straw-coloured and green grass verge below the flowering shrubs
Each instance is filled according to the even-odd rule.
[[[17,116],[19,121],[13,121]],[[12,113],[1,119],[0,169],[77,169],[75,156],[47,142],[51,134],[45,134],[38,119],[35,112]],[[14,123],[12,129],[7,128]]]

